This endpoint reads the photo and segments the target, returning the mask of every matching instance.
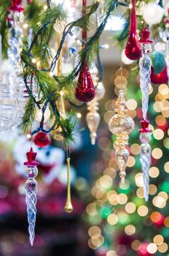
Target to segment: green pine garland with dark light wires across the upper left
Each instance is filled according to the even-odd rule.
[[[7,7],[10,5],[10,1],[0,0],[0,17],[1,17],[1,35],[2,35],[2,48],[4,50],[4,56],[7,56],[7,36],[8,36],[8,23],[7,17]],[[33,29],[33,40],[31,42],[30,48],[28,48],[27,39],[24,38],[23,42],[23,52],[21,53],[21,61],[23,65],[23,74],[21,77],[25,82],[26,89],[29,94],[29,100],[27,105],[25,105],[25,112],[23,113],[22,120],[19,124],[19,128],[25,133],[31,130],[33,126],[36,108],[42,108],[42,105],[47,100],[49,95],[49,106],[54,118],[53,129],[60,126],[63,129],[64,143],[66,146],[70,146],[74,142],[74,128],[76,121],[74,120],[74,114],[71,113],[68,118],[60,118],[58,113],[58,108],[56,102],[60,97],[60,90],[62,89],[66,92],[66,99],[72,99],[72,94],[74,92],[75,78],[79,74],[80,69],[84,63],[84,60],[90,62],[94,56],[98,54],[99,48],[99,38],[106,26],[106,21],[108,20],[111,12],[117,7],[117,1],[106,0],[105,8],[106,15],[103,17],[101,25],[96,29],[95,34],[90,37],[85,43],[85,48],[79,53],[79,62],[72,72],[68,75],[62,75],[60,77],[54,75],[50,76],[50,71],[55,68],[55,64],[60,56],[60,51],[63,48],[63,43],[66,39],[67,34],[71,34],[71,30],[74,27],[80,29],[91,30],[92,22],[91,17],[98,10],[99,3],[95,2],[90,7],[86,7],[86,14],[69,23],[63,31],[63,37],[60,41],[58,51],[55,58],[52,60],[52,55],[50,51],[50,39],[52,34],[54,34],[53,26],[55,23],[60,24],[64,19],[66,19],[66,13],[63,11],[63,6],[58,4],[56,7],[50,6],[50,1],[47,1],[47,10],[44,11],[42,5],[38,4],[38,1],[34,0],[32,4],[28,4],[25,10],[25,19],[28,24]],[[3,14],[3,15],[2,15]],[[4,24],[5,26],[2,26]],[[32,63],[32,59],[39,61],[39,67]],[[52,61],[52,62],[51,62]],[[51,63],[51,64],[50,64]],[[32,91],[32,84],[28,86],[28,79],[36,79],[37,92],[39,95],[39,100],[36,100],[34,92]]]

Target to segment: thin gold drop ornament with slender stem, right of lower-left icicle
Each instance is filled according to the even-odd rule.
[[[65,211],[68,214],[71,214],[71,211],[73,211],[73,206],[71,204],[71,181],[70,181],[70,158],[66,159],[67,161],[67,199],[66,199],[66,205],[65,205]]]

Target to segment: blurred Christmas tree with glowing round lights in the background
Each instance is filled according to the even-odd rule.
[[[131,70],[131,69],[130,69]],[[130,135],[130,157],[127,163],[127,179],[119,184],[118,166],[114,156],[116,136],[104,133],[98,140],[103,151],[96,170],[101,173],[92,187],[93,201],[87,205],[87,221],[91,248],[96,255],[167,255],[168,252],[168,85],[153,85],[149,92],[149,120],[152,129],[152,165],[149,169],[149,201],[144,200],[144,179],[139,154],[141,151],[139,119],[141,89],[137,72],[123,69],[127,78],[127,113],[135,120]],[[117,76],[119,70],[117,69]],[[114,84],[118,86],[114,80]],[[118,90],[117,86],[115,91]],[[116,96],[112,95],[112,98]],[[106,104],[106,121],[112,115],[115,99]],[[104,129],[106,129],[104,127]],[[103,133],[103,131],[102,131]],[[103,166],[99,170],[99,166]],[[103,173],[102,173],[103,172]]]

